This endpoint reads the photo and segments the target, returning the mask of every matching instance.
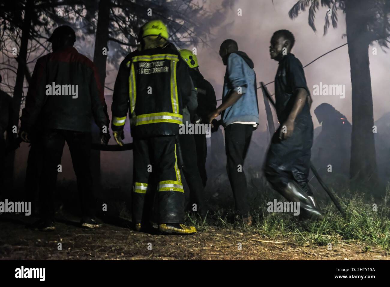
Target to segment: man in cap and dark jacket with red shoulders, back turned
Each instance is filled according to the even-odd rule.
[[[55,230],[53,194],[66,142],[80,194],[81,226],[99,227],[94,217],[96,201],[90,149],[92,116],[101,129],[103,143],[110,139],[104,90],[94,63],[73,47],[76,35],[71,27],[57,27],[48,41],[53,52],[40,57],[35,64],[19,131],[23,141],[30,142],[36,125],[42,130],[35,139],[43,155],[39,190],[41,219],[35,226],[43,231]],[[41,119],[39,123],[38,119]]]

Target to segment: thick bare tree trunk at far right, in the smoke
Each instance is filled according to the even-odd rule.
[[[352,138],[350,178],[357,184],[378,181],[373,133],[369,44],[371,38],[361,7],[367,0],[346,2],[348,53],[352,84]],[[360,3],[361,2],[361,3]]]

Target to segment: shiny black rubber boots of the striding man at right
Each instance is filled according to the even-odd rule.
[[[323,219],[321,212],[319,212],[315,206],[315,202],[310,200],[309,196],[307,196],[295,182],[289,182],[285,189],[282,190],[281,194],[287,200],[299,202],[301,212],[303,212],[303,216],[306,218],[310,220]]]

